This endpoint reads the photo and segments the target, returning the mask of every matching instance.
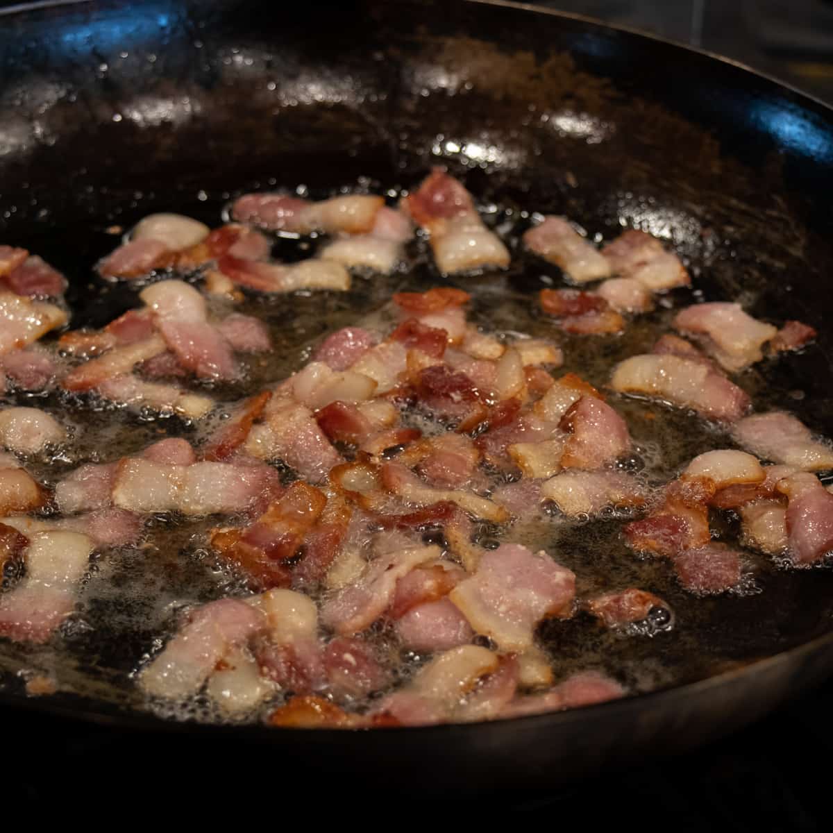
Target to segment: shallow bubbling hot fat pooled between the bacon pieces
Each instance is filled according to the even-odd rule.
[[[204,206],[201,208],[204,210]],[[501,222],[501,231],[503,224],[511,226],[505,237],[514,249],[513,262],[506,273],[443,280],[434,270],[425,243],[419,241],[412,244],[407,272],[390,277],[357,276],[348,293],[247,297],[237,311],[267,322],[274,350],[245,360],[243,381],[216,387],[212,394],[231,405],[302,367],[312,347],[327,332],[355,324],[362,317],[384,319],[393,292],[424,291],[449,283],[473,295],[470,320],[496,332],[553,338],[561,343],[565,355],[564,366],[557,373],[576,372],[604,388],[615,362],[650,349],[656,338],[667,332],[671,307],[693,300],[691,292],[677,292],[655,312],[631,322],[621,337],[565,336],[537,310],[537,290],[560,284],[561,276],[555,267],[526,255],[517,244],[527,221],[519,220],[517,211],[502,210],[493,212],[492,219]],[[276,241],[279,256],[287,260],[306,257],[310,245]],[[312,247],[315,245],[313,241]],[[99,320],[84,322],[76,316],[73,326],[101,326],[136,303],[135,292],[103,285],[92,301],[88,295],[84,300],[80,318]],[[795,361],[800,359],[795,357]],[[791,390],[790,374],[775,362],[764,362],[736,382],[751,394],[756,410],[789,407],[802,416],[802,400]],[[198,386],[195,383],[192,387]],[[27,402],[32,404],[31,400]],[[702,451],[732,445],[718,426],[691,414],[612,394],[611,402],[626,417],[636,443],[634,454],[624,464],[651,485],[676,476],[692,456]],[[32,473],[47,485],[82,462],[116,460],[164,436],[184,436],[199,442],[222,420],[222,415],[213,416],[193,426],[176,417],[137,416],[109,407],[92,410],[87,401],[55,394],[37,397],[35,404],[74,426],[69,451],[32,465]],[[286,475],[287,479],[292,477],[291,472]],[[497,534],[533,550],[545,549],[576,572],[579,596],[638,586],[661,596],[673,609],[673,628],[660,630],[652,637],[616,635],[597,626],[586,614],[569,621],[545,622],[539,636],[551,654],[556,678],[595,667],[616,676],[633,691],[646,691],[701,679],[771,656],[825,630],[827,616],[820,616],[819,611],[830,609],[831,604],[824,600],[833,600],[833,572],[786,571],[769,559],[747,552],[754,576],[745,592],[698,598],[681,589],[666,561],[640,559],[626,547],[621,537],[625,518],[611,513],[593,521],[573,521],[541,513],[515,528],[484,529],[481,533],[485,546]],[[715,521],[723,522],[718,518]],[[222,596],[247,594],[245,577],[207,549],[207,531],[216,525],[217,518],[195,521],[156,516],[147,521],[146,535],[139,545],[98,556],[84,581],[79,609],[62,627],[61,637],[43,647],[2,642],[0,663],[9,672],[5,685],[19,687],[32,671],[45,671],[63,691],[113,705],[146,708],[133,685],[132,672],[172,634],[182,611]],[[726,528],[732,531],[731,521]],[[424,661],[421,656],[400,654],[385,626],[377,624],[373,631],[373,638],[397,666],[400,678]],[[20,673],[16,676],[16,672]],[[218,719],[203,701],[165,713],[178,718]]]

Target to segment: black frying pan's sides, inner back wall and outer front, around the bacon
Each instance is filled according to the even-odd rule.
[[[56,2],[0,25],[0,238],[67,273],[76,325],[112,315],[89,290],[112,222],[177,209],[216,222],[227,192],[269,177],[407,186],[443,162],[482,198],[606,235],[623,223],[670,237],[706,297],[746,293],[752,312],[819,327],[816,347],[765,382],[804,392],[794,410],[833,433],[833,117],[797,92],[701,52],[499,2]],[[831,574],[780,586],[716,621],[716,643],[736,645],[733,670],[578,711],[266,731],[26,700],[7,681],[3,717],[25,707],[47,727],[84,718],[215,754],[262,746],[294,772],[342,781],[551,785],[721,736],[829,674]]]

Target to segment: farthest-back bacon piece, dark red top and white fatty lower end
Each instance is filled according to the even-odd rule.
[[[509,265],[509,252],[483,224],[469,192],[439,168],[403,200],[403,207],[430,235],[442,274]]]

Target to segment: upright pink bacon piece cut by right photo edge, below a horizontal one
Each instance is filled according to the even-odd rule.
[[[833,551],[833,494],[815,475],[803,471],[779,481],[777,489],[789,501],[786,530],[793,561],[821,561]]]

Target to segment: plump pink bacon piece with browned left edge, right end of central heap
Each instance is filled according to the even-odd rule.
[[[596,397],[581,397],[561,417],[559,426],[570,435],[561,455],[564,468],[599,468],[631,447],[625,420]]]

